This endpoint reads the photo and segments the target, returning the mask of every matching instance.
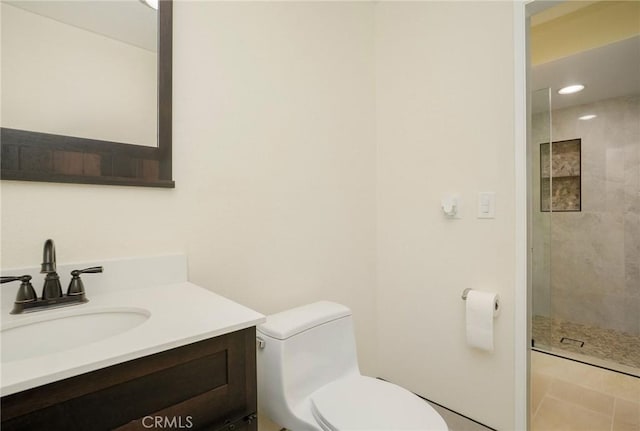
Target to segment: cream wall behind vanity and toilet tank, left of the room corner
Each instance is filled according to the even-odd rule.
[[[49,237],[61,262],[186,251],[192,281],[263,313],[348,304],[370,371],[372,24],[370,4],[176,2],[176,189],[3,181],[3,267]]]

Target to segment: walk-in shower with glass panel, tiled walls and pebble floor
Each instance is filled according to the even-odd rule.
[[[640,376],[640,36],[532,82],[532,347]]]

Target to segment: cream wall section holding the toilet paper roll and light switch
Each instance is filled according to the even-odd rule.
[[[510,2],[376,10],[382,377],[514,429],[514,42]],[[440,209],[459,192],[461,220]],[[496,192],[496,218],[476,218]],[[465,341],[464,288],[498,292],[495,351]]]

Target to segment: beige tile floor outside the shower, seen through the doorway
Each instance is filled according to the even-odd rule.
[[[531,352],[532,431],[640,431],[640,378]]]

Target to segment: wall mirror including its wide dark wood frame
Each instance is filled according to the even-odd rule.
[[[2,179],[174,187],[171,12],[2,2]]]

